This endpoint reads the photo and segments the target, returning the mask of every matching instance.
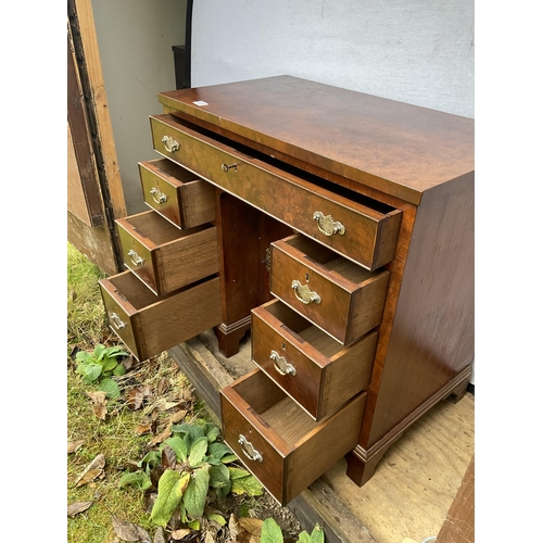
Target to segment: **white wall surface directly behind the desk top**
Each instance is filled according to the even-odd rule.
[[[289,74],[473,117],[473,0],[194,2],[192,86]]]

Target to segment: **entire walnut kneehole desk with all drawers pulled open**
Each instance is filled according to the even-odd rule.
[[[342,455],[363,484],[471,374],[473,121],[290,76],[159,100],[112,328],[140,359],[250,331],[225,441],[281,503]]]

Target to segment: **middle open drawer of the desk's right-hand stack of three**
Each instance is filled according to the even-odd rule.
[[[315,420],[369,384],[377,339],[345,348],[279,300],[252,311],[253,362]]]

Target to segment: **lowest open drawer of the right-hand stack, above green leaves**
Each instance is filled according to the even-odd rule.
[[[366,393],[316,422],[263,371],[220,391],[223,435],[268,492],[286,505],[355,447]]]

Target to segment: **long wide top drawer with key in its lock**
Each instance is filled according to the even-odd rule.
[[[401,211],[377,211],[349,200],[174,118],[151,116],[156,152],[368,269],[393,260]]]

